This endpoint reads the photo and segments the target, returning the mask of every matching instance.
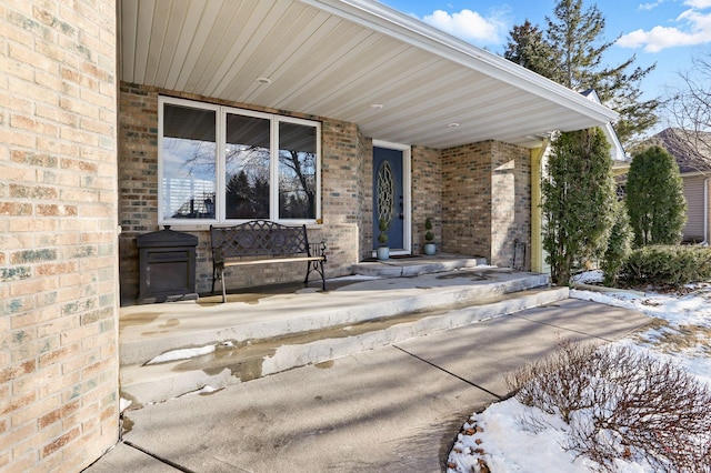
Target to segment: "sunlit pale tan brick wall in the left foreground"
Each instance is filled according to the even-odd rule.
[[[116,3],[0,4],[0,471],[118,440]]]

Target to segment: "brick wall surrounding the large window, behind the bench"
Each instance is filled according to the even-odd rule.
[[[119,118],[119,221],[121,301],[133,303],[138,296],[138,249],[136,236],[158,228],[158,97],[154,88],[121,83]],[[278,113],[277,110],[241,103],[214,101],[191,94],[170,92],[173,97],[212,101],[231,107]],[[350,274],[360,261],[363,239],[370,229],[370,141],[353,123],[314,117],[321,125],[321,210],[322,225],[309,228],[311,241],[328,244],[327,276]],[[368,177],[368,178],[367,178]],[[172,230],[194,234],[197,248],[197,290],[211,289],[212,259],[209,225],[172,225]],[[368,241],[370,244],[370,240]],[[246,288],[303,280],[303,263],[261,264],[227,271],[229,288]]]

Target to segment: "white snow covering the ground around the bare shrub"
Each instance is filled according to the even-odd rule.
[[[599,282],[587,274],[579,282]],[[609,305],[632,309],[650,316],[650,328],[618,342],[637,350],[671,358],[700,381],[711,385],[711,285],[690,285],[681,293],[635,293],[632,291],[597,292],[572,290],[571,296]],[[535,412],[534,412],[535,411]],[[521,426],[521,419],[531,414],[547,424],[531,433]],[[575,457],[561,444],[567,425],[560,417],[548,415],[519,403],[514,397],[490,405],[473,414],[459,434],[449,460],[448,473],[479,472],[479,459],[495,473],[507,472],[589,472],[594,462]],[[654,471],[647,463],[617,462],[620,473]],[[483,470],[487,471],[487,470]]]

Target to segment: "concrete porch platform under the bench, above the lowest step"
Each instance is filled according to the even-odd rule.
[[[464,268],[413,278],[329,281],[317,288],[200,298],[199,301],[122,308],[121,365],[144,364],[179,348],[248,342],[349,325],[465,301],[542,288],[545,274],[499,268]],[[293,286],[292,286],[293,289]]]

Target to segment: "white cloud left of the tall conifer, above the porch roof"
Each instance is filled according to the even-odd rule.
[[[500,44],[509,32],[507,10],[494,10],[488,17],[468,9],[454,13],[435,10],[422,20],[439,30],[480,46]]]

